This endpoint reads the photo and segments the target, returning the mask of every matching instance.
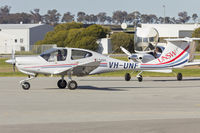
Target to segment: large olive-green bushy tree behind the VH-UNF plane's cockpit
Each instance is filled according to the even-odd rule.
[[[55,26],[53,31],[45,35],[44,40],[36,44],[57,44],[59,47],[77,47],[97,50],[97,39],[106,37],[108,29],[100,25],[83,28],[81,23],[64,23]]]

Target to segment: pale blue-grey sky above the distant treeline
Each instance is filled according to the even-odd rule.
[[[41,14],[49,9],[57,9],[61,14],[70,11],[76,15],[84,11],[86,14],[106,12],[110,16],[117,10],[164,16],[165,5],[165,14],[169,17],[177,17],[181,11],[200,16],[200,0],[0,0],[0,6],[5,5],[11,6],[11,13],[30,12],[39,8]]]

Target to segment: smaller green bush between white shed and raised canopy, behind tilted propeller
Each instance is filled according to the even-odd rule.
[[[123,46],[128,51],[134,51],[134,36],[124,32],[114,33],[111,36],[112,46],[115,52],[121,53],[120,46]]]

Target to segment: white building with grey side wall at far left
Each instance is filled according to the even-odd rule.
[[[0,54],[29,51],[53,27],[45,24],[0,24]]]

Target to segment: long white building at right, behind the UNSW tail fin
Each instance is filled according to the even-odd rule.
[[[192,37],[192,32],[199,24],[141,24],[141,28],[155,28],[159,38]]]

